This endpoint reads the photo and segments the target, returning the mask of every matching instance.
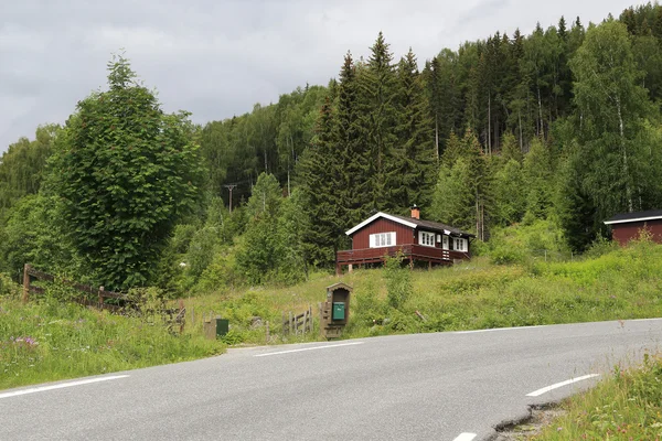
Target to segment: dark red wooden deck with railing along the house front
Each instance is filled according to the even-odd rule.
[[[402,251],[409,261],[419,260],[430,263],[452,265],[455,259],[469,260],[468,252],[450,251],[423,245],[398,245],[383,248],[348,249],[335,255],[335,268],[340,272],[343,266],[383,262],[384,256],[395,256]]]

